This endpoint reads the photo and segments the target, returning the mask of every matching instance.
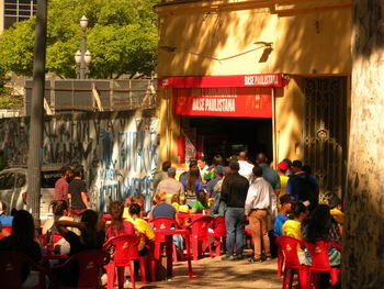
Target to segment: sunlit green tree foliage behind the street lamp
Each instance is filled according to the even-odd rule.
[[[50,0],[47,26],[47,71],[76,76],[82,15],[89,19],[87,49],[92,54],[91,77],[150,75],[157,58],[158,0]],[[32,76],[35,19],[15,23],[0,35],[0,66]]]

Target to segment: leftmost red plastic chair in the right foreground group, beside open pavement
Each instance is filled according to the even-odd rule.
[[[297,256],[297,246],[301,245],[301,241],[290,236],[278,236],[276,244],[284,254],[283,289],[292,288],[295,273],[297,273],[300,288],[306,289],[308,267],[301,265]]]

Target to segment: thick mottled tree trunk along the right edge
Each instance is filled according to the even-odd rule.
[[[342,288],[384,286],[384,0],[352,1]]]

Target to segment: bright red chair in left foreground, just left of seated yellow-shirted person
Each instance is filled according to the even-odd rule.
[[[140,237],[135,234],[123,234],[115,236],[105,242],[104,248],[114,247],[115,254],[112,263],[106,266],[108,288],[114,287],[115,268],[117,268],[118,288],[124,287],[124,268],[128,266],[132,288],[135,289],[135,273],[132,260],[138,259],[140,263],[142,284],[146,284],[145,257],[138,255],[138,244]]]

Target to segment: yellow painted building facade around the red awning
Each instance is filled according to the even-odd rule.
[[[351,74],[349,0],[165,1],[158,77],[284,74],[274,89],[273,157],[301,158],[303,78]],[[180,118],[160,89],[160,160],[177,162]],[[348,121],[347,121],[348,123]]]

